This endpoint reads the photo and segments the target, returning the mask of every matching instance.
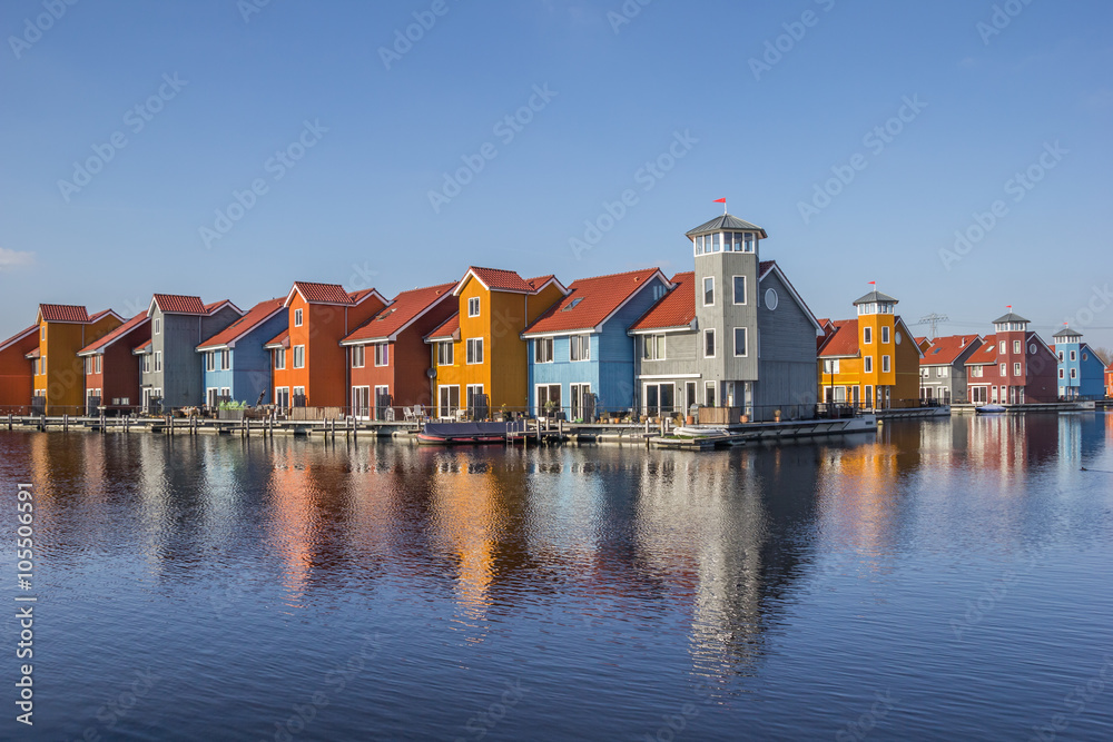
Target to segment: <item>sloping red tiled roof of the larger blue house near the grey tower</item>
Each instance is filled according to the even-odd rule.
[[[525,328],[522,337],[569,330],[598,330],[654,277],[671,288],[660,268],[644,268],[609,276],[579,278],[569,293]]]

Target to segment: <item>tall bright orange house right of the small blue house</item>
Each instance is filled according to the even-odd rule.
[[[373,288],[348,293],[338,284],[295,281],[284,305],[289,329],[266,344],[275,405],[346,407],[349,386],[343,340],[386,306]]]

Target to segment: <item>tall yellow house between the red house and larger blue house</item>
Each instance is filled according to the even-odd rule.
[[[528,345],[522,330],[568,294],[553,276],[469,268],[453,294],[459,310],[425,337],[436,417],[473,419],[529,409]]]

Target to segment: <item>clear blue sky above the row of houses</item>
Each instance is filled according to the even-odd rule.
[[[0,337],[40,301],[671,275],[726,197],[819,316],[876,280],[940,334],[1013,305],[1113,346],[1109,2],[255,2],[0,6]]]

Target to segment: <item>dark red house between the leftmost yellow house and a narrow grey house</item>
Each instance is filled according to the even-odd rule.
[[[81,348],[87,415],[99,415],[101,407],[107,414],[127,413],[139,405],[142,378],[131,349],[149,339],[150,317],[145,311]]]

